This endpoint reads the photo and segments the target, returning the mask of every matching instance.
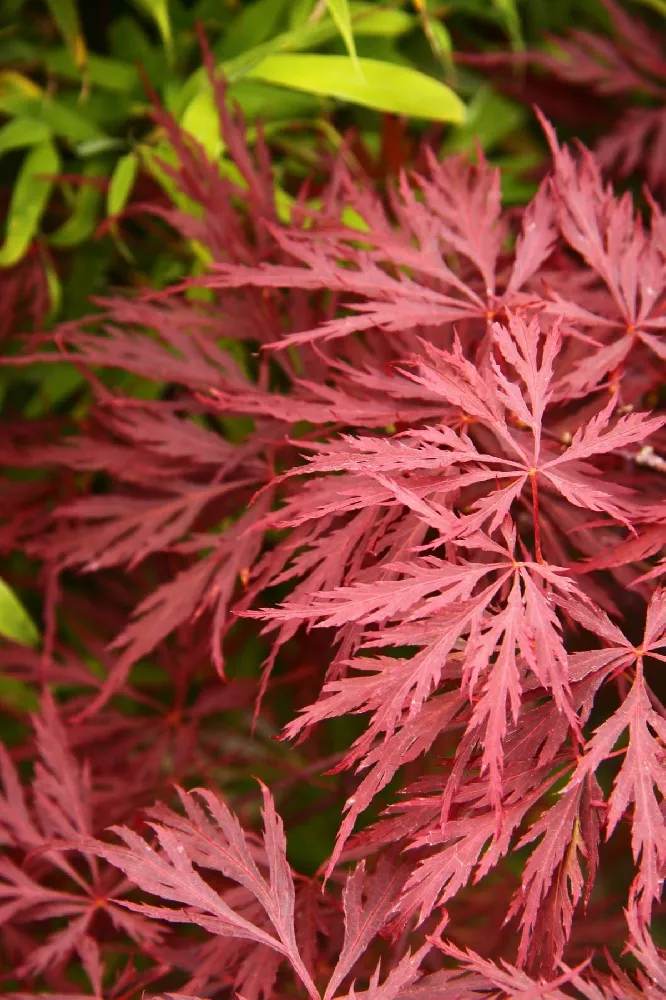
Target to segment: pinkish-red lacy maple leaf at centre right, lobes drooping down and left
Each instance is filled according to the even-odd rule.
[[[490,771],[491,795],[499,807],[502,742],[508,715],[515,722],[520,712],[525,666],[576,725],[569,707],[567,653],[552,599],[559,593],[568,600],[573,588],[577,599],[587,603],[561,571],[541,563],[518,563],[515,529],[505,525],[504,532],[504,546],[480,534],[464,543],[485,549],[487,562],[460,559],[455,565],[422,557],[418,562],[389,565],[394,579],[386,585],[357,583],[315,593],[307,603],[287,601],[283,608],[252,612],[269,621],[301,620],[322,626],[378,623],[382,626],[378,633],[367,633],[366,648],[424,647],[411,659],[357,660],[354,665],[365,676],[329,682],[323,692],[328,697],[306,709],[287,727],[286,735],[294,736],[326,717],[370,710],[373,719],[359,744],[367,753],[370,740],[382,732],[392,734],[405,708],[408,717],[418,715],[425,700],[450,675],[447,659],[463,640],[464,651],[458,654],[460,665],[453,676],[461,676],[462,690],[475,699],[469,728],[483,741],[482,766]],[[495,610],[503,590],[506,597]],[[399,746],[400,740],[396,741]],[[386,761],[390,760],[389,755]],[[373,763],[372,758],[366,763]],[[365,801],[363,796],[360,801]],[[346,822],[345,831],[347,827]]]

